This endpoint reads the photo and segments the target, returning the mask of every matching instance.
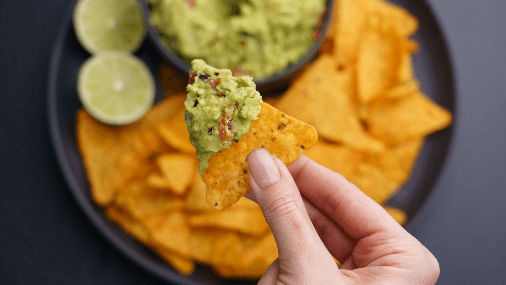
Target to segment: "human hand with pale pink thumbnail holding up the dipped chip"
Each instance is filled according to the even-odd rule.
[[[245,196],[260,205],[279,252],[259,284],[436,283],[436,258],[342,175],[306,156],[287,168],[263,148],[247,161]]]

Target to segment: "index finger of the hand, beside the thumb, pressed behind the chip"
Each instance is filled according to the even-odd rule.
[[[341,174],[302,155],[288,166],[301,193],[351,237],[402,229],[390,215]]]

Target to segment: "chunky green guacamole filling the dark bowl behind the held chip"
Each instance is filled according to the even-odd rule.
[[[150,0],[151,20],[183,59],[262,78],[314,43],[325,0]]]

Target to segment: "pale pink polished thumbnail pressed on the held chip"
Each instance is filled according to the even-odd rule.
[[[249,171],[260,188],[265,188],[281,179],[276,161],[265,148],[255,149],[248,154]]]

